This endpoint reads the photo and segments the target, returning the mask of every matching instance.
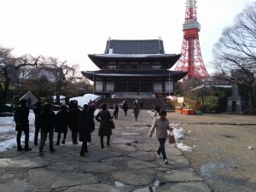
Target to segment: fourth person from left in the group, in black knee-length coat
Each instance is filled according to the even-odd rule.
[[[64,134],[62,139],[62,144],[65,144],[65,140],[67,137],[67,125],[68,125],[68,112],[67,106],[61,105],[61,110],[56,113],[56,127],[55,132],[58,133],[57,143],[55,145],[60,145],[61,133]]]

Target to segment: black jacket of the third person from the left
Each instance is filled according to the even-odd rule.
[[[50,109],[44,109],[40,115],[41,129],[43,131],[52,131],[55,129],[56,114]]]

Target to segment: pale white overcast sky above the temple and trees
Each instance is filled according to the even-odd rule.
[[[214,73],[212,47],[224,27],[253,0],[198,0],[201,55]],[[166,54],[180,54],[185,0],[0,0],[0,46],[14,55],[59,58],[97,70],[88,54],[103,54],[112,39],[157,39]],[[174,67],[172,67],[172,70]]]

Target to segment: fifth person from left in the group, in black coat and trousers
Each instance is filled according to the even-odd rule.
[[[71,137],[73,144],[78,144],[78,121],[79,121],[79,110],[78,102],[73,102],[73,108],[68,112],[68,126],[71,130]]]

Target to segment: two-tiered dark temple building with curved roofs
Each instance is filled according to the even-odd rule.
[[[170,71],[181,55],[165,54],[163,41],[109,38],[104,54],[88,55],[100,70],[83,71],[102,97],[122,95],[169,96],[174,83],[187,72]]]

